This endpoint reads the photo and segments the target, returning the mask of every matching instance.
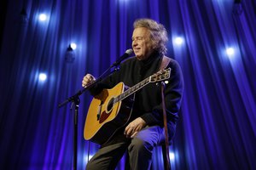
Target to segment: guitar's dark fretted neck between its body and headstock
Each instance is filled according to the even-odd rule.
[[[150,78],[151,77],[145,78],[142,82],[138,82],[136,85],[134,85],[133,87],[126,90],[123,94],[119,94],[117,97],[115,97],[114,103],[117,103],[117,102],[127,98],[131,94],[136,93],[139,89],[143,88],[150,82]]]

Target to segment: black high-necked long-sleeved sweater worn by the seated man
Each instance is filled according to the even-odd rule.
[[[124,82],[126,86],[132,87],[159,71],[162,58],[162,56],[154,54],[146,60],[138,60],[136,57],[127,59],[120,65],[119,71],[99,82],[90,92],[93,95],[98,94],[103,88],[113,88],[119,82]],[[175,130],[173,125],[178,119],[177,113],[183,94],[183,74],[176,60],[171,59],[166,68],[169,67],[172,71],[171,77],[168,79],[169,83],[165,88],[165,100],[168,130],[172,131],[170,133],[173,135],[173,130]],[[136,92],[130,122],[140,116],[148,126],[163,126],[160,89],[160,83],[153,82]]]

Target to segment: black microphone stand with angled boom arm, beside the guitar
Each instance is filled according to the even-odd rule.
[[[113,65],[108,67],[108,69],[106,71],[104,71],[103,74],[96,79],[96,81],[91,82],[84,89],[79,90],[76,94],[70,96],[69,98],[67,98],[66,100],[64,100],[63,102],[61,102],[58,105],[58,107],[61,108],[62,106],[67,105],[67,103],[72,102],[70,110],[72,110],[73,105],[75,105],[75,110],[74,110],[74,115],[73,115],[73,170],[77,170],[77,162],[78,162],[77,155],[78,155],[78,122],[79,122],[78,116],[79,116],[79,103],[80,103],[79,96],[81,94],[84,94],[84,92],[89,90],[90,88],[93,88],[97,82],[100,82],[104,78],[112,75],[113,72],[119,71],[119,64],[121,63],[122,60],[123,59],[118,59],[117,61],[115,61],[113,63]],[[110,69],[113,67],[115,67],[114,70],[110,71]],[[106,75],[107,72],[108,72],[108,74]]]

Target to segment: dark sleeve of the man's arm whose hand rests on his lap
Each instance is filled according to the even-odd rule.
[[[183,96],[183,73],[177,61],[172,59],[168,67],[171,67],[171,76],[165,88],[166,116],[167,121],[177,122],[177,113],[181,106]],[[162,103],[155,105],[152,112],[141,116],[148,125],[163,125]]]

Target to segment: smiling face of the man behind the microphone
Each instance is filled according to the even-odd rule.
[[[132,48],[137,59],[148,59],[153,52],[153,44],[150,38],[148,28],[135,28],[132,34]]]

